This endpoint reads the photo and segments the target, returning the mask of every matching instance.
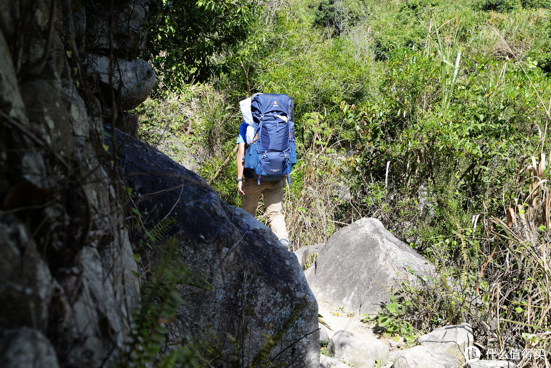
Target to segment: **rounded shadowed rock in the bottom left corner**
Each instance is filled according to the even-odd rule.
[[[56,351],[40,331],[28,327],[0,335],[0,367],[58,368]]]

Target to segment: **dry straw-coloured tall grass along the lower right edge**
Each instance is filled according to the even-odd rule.
[[[549,103],[532,82],[525,66],[506,40],[500,40],[509,48],[522,73],[526,75],[539,107],[544,111],[545,125],[533,123],[527,141],[537,132],[537,144],[531,155],[518,164],[516,195],[506,206],[506,220],[490,215],[486,227],[486,239],[493,244],[493,251],[480,269],[480,280],[487,286],[482,315],[495,322],[496,348],[500,351],[521,347],[524,351],[536,349],[544,356],[523,354],[520,367],[549,367],[551,356],[551,229],[549,211],[551,193],[549,166],[551,151],[546,161],[548,122],[551,119]],[[527,64],[530,67],[530,64]],[[480,282],[479,280],[479,282]]]

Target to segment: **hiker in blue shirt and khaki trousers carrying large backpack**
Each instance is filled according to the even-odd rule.
[[[285,181],[290,184],[296,163],[293,100],[287,95],[257,94],[240,105],[244,121],[237,137],[236,181],[241,208],[255,217],[263,196],[270,228],[289,249],[282,202]],[[269,145],[269,151],[264,145]]]

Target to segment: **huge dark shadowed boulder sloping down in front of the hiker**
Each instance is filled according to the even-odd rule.
[[[210,338],[232,360],[235,338],[240,354],[232,364],[317,368],[317,302],[293,253],[250,214],[223,203],[194,172],[136,139],[116,137],[125,185],[150,221],[146,226],[174,219],[171,235],[182,260],[211,285],[182,290],[171,343]]]

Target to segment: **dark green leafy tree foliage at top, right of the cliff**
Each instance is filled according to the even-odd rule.
[[[154,1],[148,49],[172,89],[204,82],[220,72],[216,56],[246,39],[257,5],[250,1]]]

